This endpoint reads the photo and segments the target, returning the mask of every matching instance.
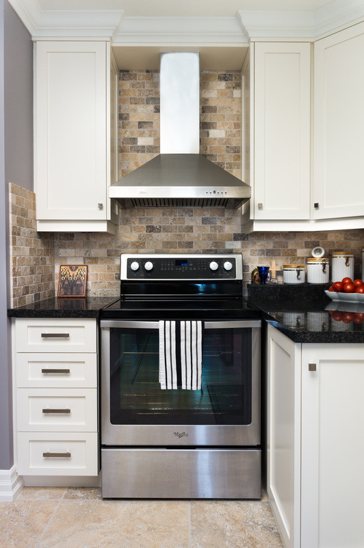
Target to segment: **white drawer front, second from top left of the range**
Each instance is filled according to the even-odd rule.
[[[96,388],[97,354],[17,353],[17,388]]]

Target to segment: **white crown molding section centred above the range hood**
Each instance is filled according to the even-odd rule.
[[[158,42],[248,44],[236,17],[125,17],[113,38],[115,45]]]

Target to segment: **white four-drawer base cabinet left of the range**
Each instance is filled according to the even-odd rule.
[[[97,476],[96,319],[15,321],[17,472]]]

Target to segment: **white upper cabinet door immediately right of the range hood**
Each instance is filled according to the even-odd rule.
[[[254,219],[309,219],[310,45],[254,47]]]

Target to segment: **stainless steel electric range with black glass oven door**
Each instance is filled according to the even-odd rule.
[[[261,321],[242,255],[122,254],[120,280],[101,312],[103,497],[260,498]],[[179,360],[161,386],[165,321],[177,347],[179,325],[202,326],[198,389],[181,388]]]

